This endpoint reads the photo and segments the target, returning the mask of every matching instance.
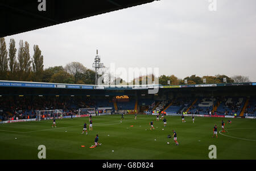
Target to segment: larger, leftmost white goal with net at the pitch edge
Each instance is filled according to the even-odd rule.
[[[62,119],[63,118],[63,111],[62,110],[37,110],[36,111],[36,119],[40,120],[47,120],[47,119]]]

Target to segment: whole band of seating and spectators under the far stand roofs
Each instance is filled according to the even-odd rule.
[[[196,103],[192,105],[197,99]],[[245,103],[246,100],[249,102]],[[118,110],[134,110],[135,99],[129,102],[117,102]],[[191,98],[179,97],[169,101],[156,101],[154,99],[139,99],[138,106],[147,106],[150,109],[152,104],[158,104],[157,109],[162,106],[160,111],[164,110],[167,114],[181,114],[187,111],[188,114],[209,115],[210,111],[214,111],[217,115],[239,115],[243,109],[243,116],[256,116],[256,98],[245,97],[215,97],[215,98]],[[243,107],[244,105],[246,107]],[[168,106],[170,105],[170,106]],[[189,108],[191,106],[191,108]],[[213,109],[213,106],[215,109]],[[77,110],[81,108],[100,107],[115,109],[114,103],[110,99],[89,99],[89,98],[71,98],[71,97],[8,97],[0,98],[0,119],[27,119],[36,117],[36,110],[63,110],[63,114],[77,114]],[[246,109],[245,109],[246,108]],[[105,112],[103,111],[99,111]],[[148,110],[147,112],[152,112]],[[213,114],[213,112],[212,112]]]

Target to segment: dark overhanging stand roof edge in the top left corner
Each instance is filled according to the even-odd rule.
[[[125,9],[159,0],[0,0],[0,37]]]

